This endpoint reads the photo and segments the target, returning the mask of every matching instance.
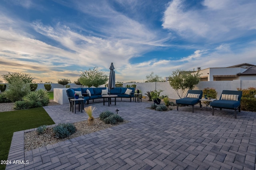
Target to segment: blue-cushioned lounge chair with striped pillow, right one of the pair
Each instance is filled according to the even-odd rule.
[[[235,110],[235,119],[237,109],[240,112],[240,102],[242,98],[242,91],[234,91],[234,90],[223,90],[220,95],[220,100],[215,100],[210,102],[210,106],[212,106],[212,115],[214,115],[214,107],[220,109],[233,109]]]

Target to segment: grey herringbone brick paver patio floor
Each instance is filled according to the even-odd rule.
[[[24,152],[24,131],[14,133],[8,169],[255,169],[256,113],[202,109],[199,104],[171,111],[148,109],[150,102],[94,102],[94,117],[110,110],[129,123]],[[85,107],[86,107],[85,106]],[[53,121],[83,121],[86,113],[70,111],[69,104],[46,106]],[[27,131],[32,131],[29,129]],[[23,143],[22,143],[23,141]],[[23,148],[23,150],[22,150]]]

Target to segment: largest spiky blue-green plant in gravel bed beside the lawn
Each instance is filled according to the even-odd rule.
[[[72,135],[76,131],[76,127],[72,123],[59,123],[52,130],[54,137],[62,139]]]

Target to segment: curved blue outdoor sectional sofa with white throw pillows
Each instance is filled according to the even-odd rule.
[[[126,92],[127,89],[130,89],[130,92]],[[124,88],[124,87],[116,87],[110,90],[110,94],[117,95],[117,98],[130,98],[130,102],[132,102],[132,98],[134,97],[134,88]],[[103,98],[102,95],[109,94],[108,88],[69,88],[67,90],[68,99],[74,98],[75,92],[81,92],[81,95],[84,98],[84,103],[87,101],[89,104],[89,100],[100,99]],[[80,97],[82,97],[80,96]]]

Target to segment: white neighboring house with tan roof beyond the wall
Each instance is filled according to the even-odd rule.
[[[203,70],[199,67],[198,71],[200,81],[256,80],[256,65],[248,63]]]

